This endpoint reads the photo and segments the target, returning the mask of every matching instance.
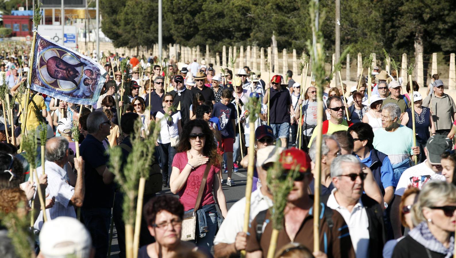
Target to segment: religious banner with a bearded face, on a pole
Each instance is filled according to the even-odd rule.
[[[106,71],[97,62],[36,34],[31,90],[83,105],[98,101]]]

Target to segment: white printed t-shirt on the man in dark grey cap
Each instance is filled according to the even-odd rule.
[[[441,172],[435,173],[432,169],[430,169],[430,167],[426,165],[426,162],[427,160],[418,165],[407,168],[400,176],[394,194],[402,196],[409,185],[421,190],[421,188],[429,180],[435,179],[445,181],[445,177],[442,176]]]

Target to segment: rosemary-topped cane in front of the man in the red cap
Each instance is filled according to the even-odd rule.
[[[279,237],[279,232],[282,229],[282,225],[284,224],[284,211],[287,204],[287,197],[291,189],[293,189],[294,179],[299,173],[299,165],[296,165],[294,169],[288,172],[286,178],[282,178],[283,172],[283,167],[280,162],[274,162],[274,165],[269,168],[266,178],[266,183],[272,193],[273,199],[272,207],[269,208],[273,229],[271,240],[269,242],[267,258],[275,257],[277,239]]]

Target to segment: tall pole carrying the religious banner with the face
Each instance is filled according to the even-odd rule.
[[[27,115],[28,115],[28,105],[29,105],[29,98],[30,98],[30,84],[31,84],[31,74],[33,72],[33,59],[35,58],[35,44],[36,44],[36,33],[38,30],[38,24],[41,22],[41,3],[39,5],[35,5],[35,8],[33,10],[33,25],[34,25],[34,30],[33,30],[33,39],[31,41],[31,50],[30,50],[30,58],[29,58],[29,72],[27,72],[27,94],[26,94],[26,99],[25,99],[25,106],[24,106],[24,113],[23,113],[23,119],[22,119],[22,141],[24,141],[25,136],[27,135],[26,132],[26,123],[27,123]],[[22,152],[22,144],[19,147],[19,153]]]

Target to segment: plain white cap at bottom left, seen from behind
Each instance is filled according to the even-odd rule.
[[[92,238],[76,218],[57,217],[43,224],[40,249],[44,257],[89,257]]]

